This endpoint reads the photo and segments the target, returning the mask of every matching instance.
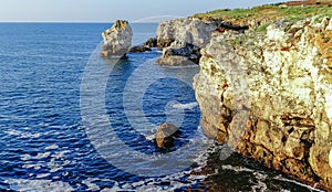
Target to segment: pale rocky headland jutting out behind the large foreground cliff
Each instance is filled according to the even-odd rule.
[[[197,64],[200,49],[207,45],[211,32],[216,29],[216,25],[193,18],[159,23],[157,46],[169,47],[164,49],[163,56],[157,60],[157,63],[165,65]]]

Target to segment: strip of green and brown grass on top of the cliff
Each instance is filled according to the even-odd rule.
[[[225,20],[230,22],[241,22],[246,20],[277,20],[277,19],[291,19],[298,20],[312,15],[326,15],[332,17],[332,8],[328,6],[313,6],[313,7],[282,7],[282,3],[266,4],[253,7],[251,9],[219,9],[206,13],[195,14],[195,18],[204,19],[211,18],[217,20]]]

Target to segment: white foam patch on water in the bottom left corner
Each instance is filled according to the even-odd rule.
[[[24,180],[24,179],[10,179],[6,180],[6,183],[10,185],[13,191],[24,192],[68,192],[74,191],[74,189],[65,182],[51,181],[51,180]]]

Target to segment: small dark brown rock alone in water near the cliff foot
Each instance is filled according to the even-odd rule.
[[[164,122],[159,126],[155,134],[155,140],[158,148],[172,147],[174,143],[174,136],[178,135],[179,130],[173,124]]]

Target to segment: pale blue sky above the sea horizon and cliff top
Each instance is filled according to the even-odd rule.
[[[276,0],[0,0],[0,22],[158,22]]]

